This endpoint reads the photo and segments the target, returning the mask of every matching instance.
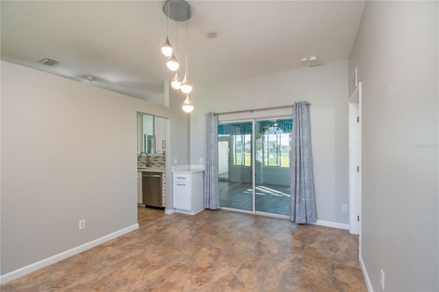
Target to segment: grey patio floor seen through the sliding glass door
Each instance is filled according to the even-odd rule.
[[[219,205],[252,211],[252,184],[245,182],[218,182]],[[257,184],[255,206],[257,211],[289,215],[289,186]]]

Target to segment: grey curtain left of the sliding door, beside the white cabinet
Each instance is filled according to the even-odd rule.
[[[204,208],[219,208],[218,192],[218,116],[206,114],[206,160],[204,160]]]

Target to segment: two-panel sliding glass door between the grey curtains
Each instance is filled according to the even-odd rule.
[[[219,204],[289,215],[292,119],[218,124]]]

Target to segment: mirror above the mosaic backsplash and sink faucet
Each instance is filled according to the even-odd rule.
[[[166,148],[165,119],[150,114],[137,114],[137,154],[164,154]]]

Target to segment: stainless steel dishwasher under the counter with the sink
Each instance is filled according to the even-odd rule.
[[[147,207],[163,208],[161,173],[142,171],[142,198]]]

